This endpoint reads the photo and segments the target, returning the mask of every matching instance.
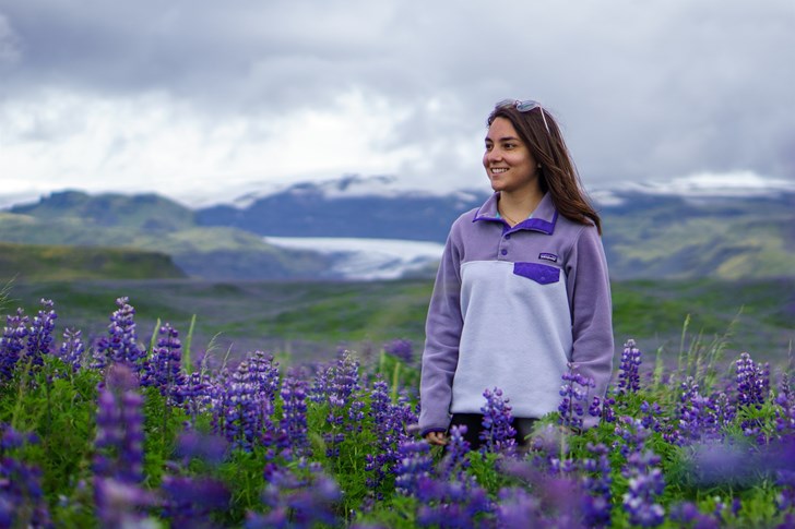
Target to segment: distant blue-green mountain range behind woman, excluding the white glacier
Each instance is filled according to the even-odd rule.
[[[450,224],[487,197],[483,191],[434,195],[372,183],[358,177],[301,183],[245,203],[195,209],[154,194],[58,192],[0,212],[0,241],[159,252],[186,275],[206,279],[367,279],[339,272],[340,259],[356,259],[349,252],[343,257],[344,252],[312,251],[311,244],[276,247],[264,237],[442,244]],[[371,189],[363,191],[364,184]],[[601,196],[605,251],[616,280],[795,275],[795,193],[690,199],[632,189]],[[432,259],[425,259],[413,276],[432,276]]]

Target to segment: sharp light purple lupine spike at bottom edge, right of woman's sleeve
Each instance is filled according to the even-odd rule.
[[[629,483],[624,494],[624,507],[629,521],[641,527],[656,527],[665,518],[663,506],[656,503],[665,490],[663,471],[657,467],[660,457],[652,450],[634,450],[627,457],[622,474]]]

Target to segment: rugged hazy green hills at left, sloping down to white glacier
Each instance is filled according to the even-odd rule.
[[[327,268],[313,252],[276,249],[235,228],[195,226],[190,209],[157,195],[54,193],[0,212],[0,241],[135,248],[169,255],[191,277],[213,279],[311,278]]]

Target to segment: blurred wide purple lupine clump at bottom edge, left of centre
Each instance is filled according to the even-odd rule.
[[[317,464],[298,468],[308,476],[299,478],[286,469],[271,474],[262,502],[270,507],[266,514],[249,513],[247,529],[310,528],[335,526],[334,505],[341,497],[340,488]]]

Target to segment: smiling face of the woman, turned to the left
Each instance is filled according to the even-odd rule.
[[[483,167],[491,189],[503,193],[527,190],[538,184],[537,164],[527,146],[520,140],[513,124],[506,118],[495,118],[486,134]]]

